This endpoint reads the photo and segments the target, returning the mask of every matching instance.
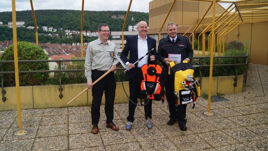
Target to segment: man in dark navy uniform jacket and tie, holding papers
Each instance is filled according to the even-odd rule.
[[[168,54],[181,54],[181,62],[188,63],[193,59],[193,49],[187,37],[177,34],[176,24],[170,22],[167,24],[166,38],[161,39],[158,45],[158,60],[162,62],[165,70],[165,90],[167,94],[167,102],[170,113],[168,125],[173,125],[176,121],[182,131],[186,131],[186,104],[178,105],[176,110],[176,101],[174,93],[171,89],[170,75],[168,75],[167,67],[172,60],[168,59]]]

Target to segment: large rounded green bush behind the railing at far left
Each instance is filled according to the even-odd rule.
[[[18,60],[47,60],[44,50],[31,43],[18,42]],[[1,60],[14,60],[14,46],[5,49]],[[4,71],[15,71],[14,63],[4,63]],[[48,62],[19,63],[19,71],[49,70]],[[49,79],[49,73],[24,73],[19,74],[20,86],[44,85]],[[15,74],[4,74],[4,86],[15,86]]]

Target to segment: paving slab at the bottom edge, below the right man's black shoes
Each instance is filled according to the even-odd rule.
[[[202,150],[212,148],[211,145],[195,134],[172,137],[170,140],[175,143],[180,150]]]

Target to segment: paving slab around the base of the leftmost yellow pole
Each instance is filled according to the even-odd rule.
[[[15,136],[15,132],[19,131],[18,128],[10,128],[4,135],[2,141],[9,141],[9,140],[20,140],[20,139],[29,139],[29,138],[35,138],[37,134],[38,127],[26,127],[22,130],[27,131],[27,134],[22,136]]]

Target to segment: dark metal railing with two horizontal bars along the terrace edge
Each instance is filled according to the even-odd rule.
[[[234,66],[234,70],[236,71],[236,78],[234,78],[234,86],[237,86],[237,78],[238,78],[238,73],[237,73],[237,66],[243,66],[246,76],[247,77],[247,67],[245,68],[244,66],[248,66],[248,56],[214,56],[213,58],[244,58],[245,63],[243,64],[214,64],[213,67],[215,66]],[[199,59],[199,65],[194,65],[193,67],[197,67],[200,73],[200,80],[198,81],[200,85],[200,89],[202,88],[202,72],[201,68],[202,67],[209,67],[210,65],[201,65],[200,61],[202,59],[210,59],[210,57],[193,57],[193,59]],[[61,60],[19,60],[18,63],[29,63],[29,62],[57,62],[58,63],[58,70],[36,70],[36,71],[19,71],[19,73],[54,73],[54,72],[59,72],[59,97],[60,99],[63,97],[62,90],[63,88],[61,87],[61,72],[77,72],[77,71],[85,71],[85,69],[61,69],[61,62],[83,62],[85,59],[61,59]],[[14,60],[9,60],[9,61],[0,61],[0,66],[1,66],[1,71],[0,71],[0,76],[1,76],[1,89],[2,89],[2,101],[6,101],[6,97],[4,94],[6,94],[6,91],[4,90],[4,74],[14,74],[15,71],[3,71],[3,63],[14,63]],[[117,70],[125,70],[125,68],[118,68]],[[246,82],[246,80],[245,80]]]

